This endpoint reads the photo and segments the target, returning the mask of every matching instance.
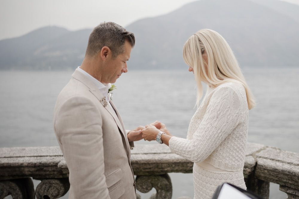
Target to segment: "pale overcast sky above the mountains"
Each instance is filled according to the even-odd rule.
[[[192,1],[195,0],[0,0],[0,40],[49,25],[80,30],[113,21],[126,27]],[[299,5],[299,0],[284,1]]]

